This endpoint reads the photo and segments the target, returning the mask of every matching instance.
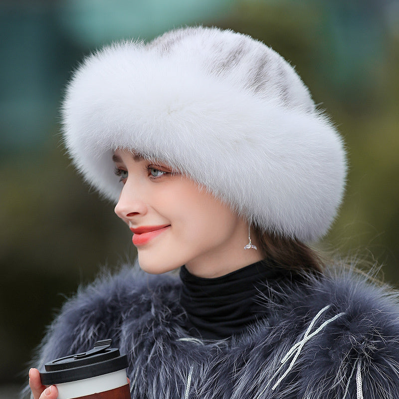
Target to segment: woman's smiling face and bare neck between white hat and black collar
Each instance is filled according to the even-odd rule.
[[[130,151],[115,151],[113,160],[124,184],[115,213],[132,230],[146,272],[185,264],[197,276],[218,277],[262,258],[244,249],[247,222],[186,176]]]

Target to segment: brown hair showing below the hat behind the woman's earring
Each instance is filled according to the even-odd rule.
[[[324,263],[321,256],[308,245],[294,238],[261,232],[256,226],[254,231],[258,239],[259,249],[265,257],[273,259],[278,266],[300,274],[322,273]]]

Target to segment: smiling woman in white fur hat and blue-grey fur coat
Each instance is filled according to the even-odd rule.
[[[140,268],[180,279],[98,279],[64,305],[36,365],[112,338],[132,398],[399,397],[398,305],[305,244],[335,217],[346,161],[277,53],[202,27],[107,47],[70,82],[63,131],[117,201]],[[56,398],[29,377],[34,399]]]

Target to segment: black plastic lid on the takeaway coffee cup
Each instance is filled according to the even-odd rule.
[[[66,356],[44,365],[40,372],[43,385],[69,383],[123,370],[128,367],[126,355],[110,348],[111,340],[97,341],[90,351]]]

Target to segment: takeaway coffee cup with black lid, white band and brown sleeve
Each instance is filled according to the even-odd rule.
[[[87,352],[46,363],[41,383],[55,385],[58,399],[130,399],[127,357],[111,345],[111,340],[97,341]]]

